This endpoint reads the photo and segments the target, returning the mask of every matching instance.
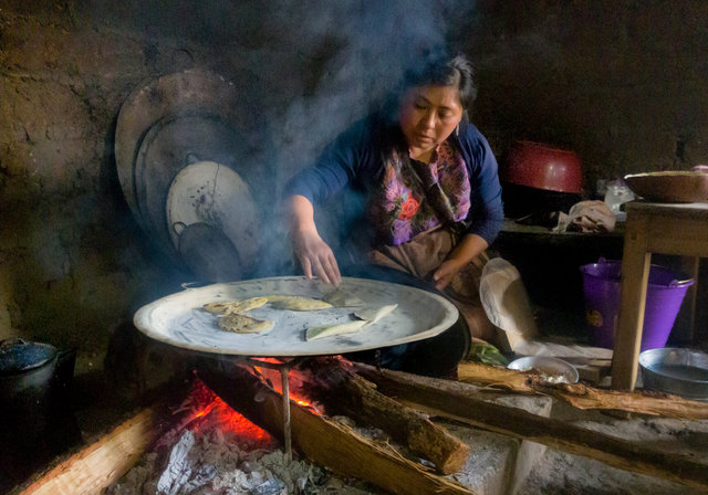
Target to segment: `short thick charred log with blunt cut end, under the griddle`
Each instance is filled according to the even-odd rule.
[[[345,369],[343,362],[348,364],[336,358],[308,361],[313,373],[308,393],[325,406],[327,414],[347,415],[387,432],[445,474],[456,473],[465,465],[469,445],[420,411],[379,393],[374,383]]]

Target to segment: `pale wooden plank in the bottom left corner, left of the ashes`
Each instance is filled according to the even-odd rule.
[[[160,414],[147,408],[59,464],[22,495],[93,495],[123,476],[157,438]]]

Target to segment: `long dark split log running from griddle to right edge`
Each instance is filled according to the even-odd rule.
[[[360,364],[353,366],[357,373],[376,383],[383,393],[418,404],[429,412],[594,459],[621,470],[701,489],[708,487],[708,464],[696,462],[688,455],[647,449],[565,421],[488,402],[479,398],[478,389],[466,383],[402,371],[377,371]]]

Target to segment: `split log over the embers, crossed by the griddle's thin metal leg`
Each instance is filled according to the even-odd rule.
[[[216,370],[205,362],[199,366],[198,376],[235,410],[282,439],[280,393],[238,365],[221,364]],[[316,415],[292,400],[290,408],[293,444],[316,464],[365,480],[394,494],[473,495],[469,488],[376,445],[344,424]]]

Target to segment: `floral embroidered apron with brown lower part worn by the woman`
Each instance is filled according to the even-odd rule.
[[[373,263],[400,270],[429,281],[457,242],[451,233],[470,208],[470,181],[459,151],[441,144],[429,164],[397,154],[385,164],[381,187],[369,201],[368,214],[377,229],[378,249],[369,252]],[[486,253],[460,270],[445,288],[465,317],[471,337],[493,339],[494,327],[479,299]]]

